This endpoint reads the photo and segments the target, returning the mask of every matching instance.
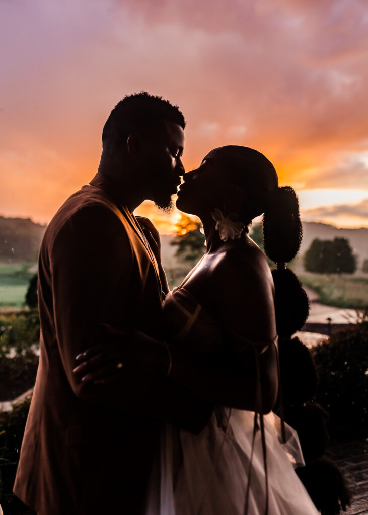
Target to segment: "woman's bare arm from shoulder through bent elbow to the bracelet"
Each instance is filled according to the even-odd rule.
[[[254,410],[258,355],[264,413],[273,408],[278,390],[274,284],[258,248],[227,252],[218,260],[200,291],[201,302],[211,306],[225,333],[230,359],[204,363],[185,348],[170,347],[174,381],[214,404]],[[190,288],[190,282],[186,288]],[[199,296],[199,291],[192,292]],[[259,342],[251,345],[247,341]],[[263,342],[263,343],[262,343]],[[164,353],[162,352],[162,359]]]

